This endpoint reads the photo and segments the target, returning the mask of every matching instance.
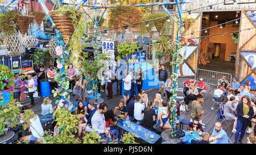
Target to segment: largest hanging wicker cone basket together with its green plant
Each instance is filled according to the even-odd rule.
[[[57,10],[49,12],[49,16],[51,16],[61,36],[63,36],[65,44],[69,44],[75,27],[80,20],[81,12],[76,11],[75,6],[59,5]]]

